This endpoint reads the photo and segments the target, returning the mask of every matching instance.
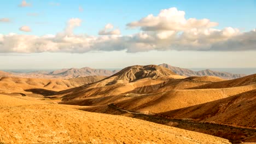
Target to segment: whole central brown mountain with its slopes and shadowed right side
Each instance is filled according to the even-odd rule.
[[[255,142],[255,95],[251,93],[256,89],[254,78],[184,77],[155,65],[135,65],[104,80],[46,98],[79,105],[84,111],[134,117],[235,143]],[[243,115],[247,120],[243,121]]]

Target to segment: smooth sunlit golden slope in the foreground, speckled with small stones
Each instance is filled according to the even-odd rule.
[[[0,95],[0,143],[230,143],[135,118]]]

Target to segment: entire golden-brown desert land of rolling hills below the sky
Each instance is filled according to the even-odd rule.
[[[164,66],[44,79],[2,72],[0,142],[256,142],[256,74],[228,80]]]

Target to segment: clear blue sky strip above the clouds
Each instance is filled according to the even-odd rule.
[[[217,28],[235,27],[243,31],[255,28],[255,1],[27,1],[32,7],[20,8],[20,0],[1,2],[1,17],[10,17],[11,25],[0,23],[1,33],[10,32],[22,34],[19,27],[28,25],[33,28],[30,34],[56,34],[72,17],[83,20],[82,26],[75,29],[75,33],[97,35],[98,29],[106,23],[112,23],[120,28],[124,34],[133,31],[126,29],[126,23],[139,20],[148,14],[158,14],[161,9],[176,7],[185,11],[185,17],[196,19],[207,18],[219,23]],[[59,6],[50,3],[60,3]],[[78,7],[84,11],[81,13]],[[38,16],[28,16],[37,13]],[[40,23],[40,24],[39,24]],[[4,28],[3,28],[4,27]]]

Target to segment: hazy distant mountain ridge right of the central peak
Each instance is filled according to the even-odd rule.
[[[165,63],[160,64],[160,66],[172,70],[177,75],[183,75],[183,76],[218,76],[218,77],[221,77],[222,79],[237,79],[237,78],[246,76],[245,74],[231,74],[226,72],[213,71],[210,69],[193,71],[190,69],[173,67]]]

